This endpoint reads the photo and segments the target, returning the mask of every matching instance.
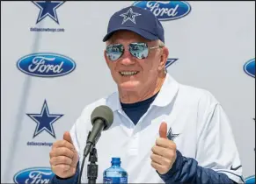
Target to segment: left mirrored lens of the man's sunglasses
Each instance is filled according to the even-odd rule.
[[[124,48],[121,44],[106,46],[106,55],[109,58],[109,60],[118,60],[123,52]]]

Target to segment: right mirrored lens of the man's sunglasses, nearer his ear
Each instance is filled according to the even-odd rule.
[[[132,43],[129,52],[137,59],[145,59],[149,54],[149,48],[145,43]]]

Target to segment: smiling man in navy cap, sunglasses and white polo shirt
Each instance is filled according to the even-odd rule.
[[[113,110],[96,145],[99,175],[121,157],[128,183],[241,183],[242,166],[222,106],[208,91],[179,84],[165,71],[164,29],[151,11],[117,11],[107,28],[105,59],[118,92],[86,106],[70,133],[55,142],[52,183],[77,183],[91,112]],[[167,132],[168,131],[168,132]],[[82,182],[87,182],[84,163]]]

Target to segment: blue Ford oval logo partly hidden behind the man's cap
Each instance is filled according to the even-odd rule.
[[[162,21],[183,18],[191,11],[191,6],[185,1],[137,1],[133,5],[152,11]]]

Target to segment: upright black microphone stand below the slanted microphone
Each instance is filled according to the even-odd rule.
[[[95,184],[96,179],[98,177],[98,165],[96,162],[98,161],[97,149],[95,147],[92,148],[89,156],[90,164],[87,165],[87,178],[89,184]]]

